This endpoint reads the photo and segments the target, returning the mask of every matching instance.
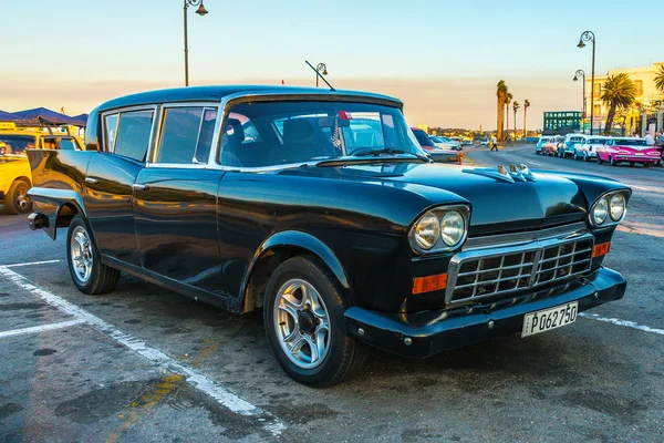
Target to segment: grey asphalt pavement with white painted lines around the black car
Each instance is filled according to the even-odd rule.
[[[634,193],[605,265],[625,297],[577,322],[407,360],[372,351],[325,390],[289,379],[261,313],[234,316],[123,276],[71,282],[56,241],[0,216],[0,442],[662,442],[664,168],[603,166],[531,145],[466,148],[623,181]],[[456,166],[458,167],[458,166]]]

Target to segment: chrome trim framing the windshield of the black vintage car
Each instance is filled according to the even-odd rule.
[[[283,92],[239,92],[235,94],[226,95],[221,99],[221,103],[219,109],[221,110],[221,120],[218,122],[219,126],[215,128],[216,140],[212,138],[212,148],[210,150],[210,162],[209,165],[218,166],[225,171],[234,171],[234,172],[247,172],[247,173],[260,173],[268,171],[282,169],[288,167],[298,167],[304,164],[313,165],[312,162],[305,163],[292,163],[292,164],[283,164],[283,165],[270,165],[270,166],[225,166],[220,163],[221,158],[221,131],[220,127],[226,127],[226,121],[228,120],[228,115],[230,114],[230,109],[236,104],[247,103],[247,102],[287,102],[287,101],[308,101],[308,102],[350,102],[350,103],[365,103],[365,104],[378,104],[390,107],[396,107],[403,112],[403,103],[397,100],[390,100],[386,97],[376,97],[365,94],[353,94],[353,93],[334,93],[330,94],[325,93],[283,93]],[[219,115],[218,115],[219,116]]]

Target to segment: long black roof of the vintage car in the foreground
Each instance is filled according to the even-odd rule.
[[[210,86],[188,86],[174,87],[166,90],[155,90],[139,92],[136,94],[124,95],[110,100],[97,107],[97,111],[106,111],[116,107],[136,106],[152,103],[170,102],[219,102],[229,95],[261,95],[261,94],[302,94],[302,95],[328,95],[328,96],[352,96],[357,99],[373,99],[391,102],[393,106],[403,107],[401,100],[382,94],[374,94],[361,91],[330,91],[323,87],[295,87],[295,86],[273,86],[273,85],[210,85]]]

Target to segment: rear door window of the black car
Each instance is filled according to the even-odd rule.
[[[113,152],[137,162],[145,162],[153,119],[152,110],[121,113]]]

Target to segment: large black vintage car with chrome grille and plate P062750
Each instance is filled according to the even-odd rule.
[[[550,330],[620,299],[602,267],[631,189],[578,174],[433,164],[398,100],[207,86],[90,114],[86,151],[31,151],[32,228],[68,228],[74,285],[121,271],[234,312],[262,308],[310,385],[364,344],[409,357]]]

